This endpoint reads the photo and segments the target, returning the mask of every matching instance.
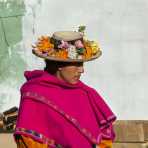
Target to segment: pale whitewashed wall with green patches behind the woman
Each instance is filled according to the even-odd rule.
[[[10,3],[10,0],[1,1]],[[85,64],[82,80],[100,92],[118,119],[148,119],[147,0],[26,0],[24,4],[21,0],[11,1],[20,8],[11,9],[14,15],[18,11],[23,15],[19,20],[22,37],[12,46],[6,45],[9,48],[0,45],[0,54],[10,58],[6,63],[0,59],[3,67],[17,61],[8,68],[8,80],[4,80],[8,69],[3,68],[6,71],[0,75],[1,111],[18,106],[19,87],[24,81],[22,71],[43,67],[42,60],[31,54],[31,44],[37,37],[51,35],[57,30],[77,30],[79,25],[86,25],[87,37],[99,41],[103,55]],[[10,27],[14,32],[18,28],[9,25],[6,33],[10,33]],[[16,57],[10,56],[13,54]]]

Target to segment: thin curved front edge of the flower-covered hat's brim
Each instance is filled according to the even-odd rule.
[[[32,53],[40,58],[44,58],[47,60],[51,60],[51,61],[59,61],[59,62],[87,62],[87,61],[92,61],[95,60],[97,58],[99,58],[102,55],[102,51],[99,50],[94,56],[90,57],[90,58],[85,58],[85,59],[62,59],[62,58],[57,58],[57,57],[52,57],[52,56],[48,56],[45,54],[42,54],[42,52],[33,49]]]

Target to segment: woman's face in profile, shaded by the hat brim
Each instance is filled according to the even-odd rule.
[[[82,73],[84,73],[83,62],[68,63],[58,69],[57,77],[70,84],[76,84]]]

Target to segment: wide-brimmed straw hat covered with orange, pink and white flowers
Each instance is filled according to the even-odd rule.
[[[82,32],[58,31],[41,36],[33,47],[38,57],[61,62],[85,62],[101,56],[98,43],[87,40]]]

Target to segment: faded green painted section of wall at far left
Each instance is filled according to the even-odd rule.
[[[22,48],[22,18],[25,15],[25,4],[21,0],[0,1],[0,111],[6,97],[7,88],[18,87],[22,81],[23,70],[26,67],[21,57]],[[9,93],[9,90],[8,90]],[[6,99],[6,98],[7,99]]]

